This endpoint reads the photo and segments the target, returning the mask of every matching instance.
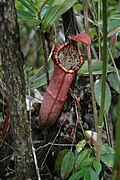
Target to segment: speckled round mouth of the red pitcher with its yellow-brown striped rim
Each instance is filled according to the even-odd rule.
[[[84,64],[83,56],[77,43],[70,40],[53,50],[52,56],[55,64],[67,73],[75,73]]]

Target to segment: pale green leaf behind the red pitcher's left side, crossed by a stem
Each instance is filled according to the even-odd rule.
[[[52,74],[53,74],[53,69],[49,71],[50,79],[52,77]],[[46,74],[42,74],[40,77],[36,78],[35,80],[31,82],[31,84],[29,85],[29,88],[30,90],[32,90],[32,89],[36,89],[38,87],[44,86],[46,84],[47,84]]]

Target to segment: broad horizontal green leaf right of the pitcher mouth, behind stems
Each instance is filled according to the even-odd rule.
[[[92,60],[91,63],[92,63],[93,75],[102,74],[102,61]],[[113,66],[107,64],[107,73],[108,72],[115,72],[115,68]],[[81,75],[89,75],[88,62],[87,61],[85,61],[83,66],[78,71],[78,76],[81,76]]]

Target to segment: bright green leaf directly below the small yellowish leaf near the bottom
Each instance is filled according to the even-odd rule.
[[[84,159],[88,158],[90,156],[91,150],[90,149],[85,149],[84,151],[81,151],[78,154],[78,157],[76,158],[75,161],[75,169],[78,170],[81,168],[81,163]]]

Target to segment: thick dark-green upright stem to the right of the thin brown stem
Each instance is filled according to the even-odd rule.
[[[102,66],[102,86],[101,86],[101,103],[100,103],[100,116],[98,121],[98,134],[97,134],[97,147],[96,152],[97,160],[100,161],[100,148],[101,148],[101,134],[102,123],[104,116],[105,92],[106,92],[106,67],[107,67],[107,0],[102,0],[103,5],[103,66]]]

